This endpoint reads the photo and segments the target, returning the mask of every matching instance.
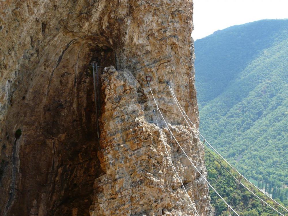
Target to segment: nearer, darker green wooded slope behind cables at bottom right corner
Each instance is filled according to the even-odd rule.
[[[211,154],[213,156],[211,156]],[[217,190],[217,192],[223,196],[223,198],[228,202],[232,208],[241,216],[278,216],[279,214],[276,211],[273,211],[269,206],[262,203],[258,198],[256,198],[251,192],[246,190],[242,185],[236,183],[235,179],[224,169],[222,168],[216,160],[224,165],[224,167],[229,170],[234,176],[237,176],[237,173],[233,172],[225,162],[221,160],[216,154],[211,154],[206,150],[205,151],[205,163],[206,168],[208,169],[208,180],[212,183],[212,186]],[[261,192],[257,191],[255,187],[249,183],[242,180],[244,185],[250,188],[254,193],[257,194],[262,200],[265,200],[273,208],[278,209],[283,215],[288,215],[287,212],[272,202],[269,198],[263,195]],[[288,188],[283,189],[283,194],[288,194]],[[218,216],[228,216],[227,205],[217,196],[213,190],[210,190],[211,204],[215,209],[215,215]],[[280,199],[276,198],[277,202],[281,205],[288,205],[288,203],[282,203]],[[232,215],[234,215],[232,213]]]

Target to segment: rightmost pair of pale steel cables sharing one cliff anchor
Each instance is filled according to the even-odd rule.
[[[192,121],[190,120],[190,118],[187,116],[187,114],[185,113],[185,111],[183,110],[183,108],[182,108],[182,106],[181,106],[181,104],[179,103],[179,101],[178,101],[178,99],[176,98],[176,96],[175,96],[175,94],[174,94],[174,92],[173,92],[173,90],[172,90],[172,88],[170,87],[170,85],[168,85],[169,86],[169,89],[170,89],[170,91],[171,91],[171,94],[172,94],[172,96],[173,96],[173,98],[174,98],[174,100],[175,100],[175,102],[176,102],[176,104],[177,104],[177,106],[178,106],[178,108],[179,108],[179,110],[180,110],[180,112],[182,113],[182,115],[183,115],[183,113],[186,115],[186,117],[187,117],[187,119],[191,122],[191,124],[194,126],[194,128],[197,130],[197,132],[200,134],[200,136],[204,139],[204,141],[206,141],[206,139],[202,136],[202,134],[199,132],[199,130],[196,128],[196,126],[192,123]],[[180,109],[180,107],[181,107],[181,109],[182,109],[182,111],[181,111],[181,109]],[[184,119],[185,119],[185,121],[187,122],[187,120],[186,120],[186,118],[185,118],[185,116],[183,115],[183,117],[184,117]],[[192,130],[192,127],[190,126],[190,124],[187,122],[187,124],[189,125],[189,127],[191,128],[191,130]],[[193,130],[192,130],[193,131]],[[199,141],[201,141],[200,140],[200,138],[196,135],[196,137],[199,139]],[[228,163],[228,161],[227,160],[225,160],[211,145],[210,145],[210,143],[208,142],[208,141],[206,141],[206,143],[227,163],[227,164],[229,164],[230,165],[230,167],[232,167],[241,177],[243,177],[246,181],[248,181],[249,183],[251,183],[248,179],[246,179],[243,175],[241,175],[230,163]],[[209,151],[209,150],[208,150]],[[209,152],[210,153],[210,152]],[[211,153],[210,153],[211,154]],[[211,154],[212,155],[212,154]],[[212,155],[213,156],[213,155]],[[222,164],[213,156],[213,158],[222,166]],[[276,211],[277,213],[279,213],[280,215],[283,215],[282,213],[280,213],[279,211],[277,211],[276,209],[274,209],[272,206],[270,206],[267,202],[265,202],[264,200],[262,200],[259,196],[257,196],[255,193],[253,193],[249,188],[247,188],[244,184],[242,184],[230,171],[228,171],[224,166],[222,166],[234,179],[236,179],[236,181],[238,181],[243,187],[245,187],[247,190],[249,190],[254,196],[256,196],[257,198],[259,198],[262,202],[264,202],[266,205],[268,205],[270,208],[272,208],[274,211]],[[256,187],[253,183],[251,183],[254,187]],[[258,187],[256,187],[260,192],[262,192],[262,190],[260,190]],[[263,192],[262,192],[263,193]],[[265,193],[263,193],[263,194],[265,194]],[[266,196],[268,196],[267,194],[265,194]],[[278,204],[279,206],[281,206],[283,209],[285,209],[286,211],[288,211],[284,206],[282,206],[281,204],[279,204],[278,202],[276,202],[274,199],[272,199],[270,196],[268,196],[271,200],[273,200],[276,204]],[[284,216],[284,215],[283,215]]]

